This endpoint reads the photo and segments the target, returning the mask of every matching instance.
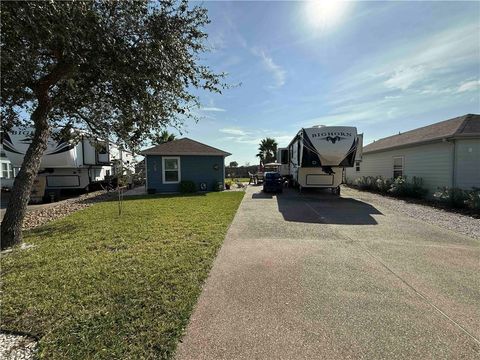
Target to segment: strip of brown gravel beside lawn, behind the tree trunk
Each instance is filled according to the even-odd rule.
[[[63,218],[71,213],[85,209],[93,204],[115,196],[115,192],[96,191],[81,195],[73,199],[60,201],[57,205],[49,206],[40,210],[30,210],[25,215],[23,229],[33,229],[46,224],[49,221]]]

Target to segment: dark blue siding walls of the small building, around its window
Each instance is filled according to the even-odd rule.
[[[168,155],[167,157],[171,157]],[[214,184],[224,182],[223,156],[193,156],[180,157],[180,180],[193,181],[200,189],[200,183],[207,184],[207,190],[214,190]],[[179,184],[164,184],[162,182],[162,158],[161,155],[147,155],[147,189],[155,189],[157,193],[178,192]],[[218,165],[218,170],[214,166]]]

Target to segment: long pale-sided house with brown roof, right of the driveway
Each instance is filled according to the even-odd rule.
[[[362,176],[421,177],[430,194],[439,187],[480,188],[480,115],[467,114],[389,136],[364,146],[346,181]]]

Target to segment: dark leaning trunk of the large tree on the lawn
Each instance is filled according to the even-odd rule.
[[[22,242],[22,225],[27,211],[30,191],[33,181],[37,177],[40,162],[50,136],[50,127],[47,120],[50,108],[50,99],[46,95],[43,99],[39,99],[38,106],[32,114],[35,133],[23,159],[20,172],[13,183],[10,201],[2,221],[2,250],[13,245],[19,245]]]

